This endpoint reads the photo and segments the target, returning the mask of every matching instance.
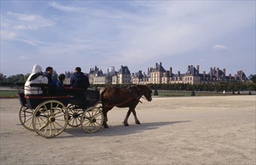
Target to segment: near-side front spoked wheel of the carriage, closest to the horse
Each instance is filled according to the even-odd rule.
[[[103,113],[97,107],[90,107],[81,116],[81,126],[84,131],[93,133],[99,130],[103,124]]]

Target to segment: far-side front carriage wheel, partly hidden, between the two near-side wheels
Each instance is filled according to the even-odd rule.
[[[82,109],[78,109],[77,106],[69,104],[68,109],[68,125],[70,127],[78,127],[81,125],[81,115],[84,113]]]

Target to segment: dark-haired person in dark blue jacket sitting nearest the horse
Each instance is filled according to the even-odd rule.
[[[72,90],[72,95],[75,95],[75,101],[78,106],[86,106],[86,91],[90,86],[89,79],[84,73],[81,72],[81,68],[75,68],[75,73],[70,78],[70,85],[74,90]]]

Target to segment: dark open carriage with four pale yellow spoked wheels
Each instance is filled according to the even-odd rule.
[[[66,90],[79,89],[66,87]],[[19,92],[17,96],[21,104],[20,123],[45,138],[58,136],[67,125],[81,126],[87,133],[94,133],[102,127],[103,114],[101,107],[97,107],[99,91],[96,89],[87,89],[87,104],[83,107],[75,104],[72,95],[24,95]]]

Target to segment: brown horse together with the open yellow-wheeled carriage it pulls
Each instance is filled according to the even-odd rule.
[[[31,85],[32,86],[32,85]],[[33,86],[38,86],[34,85]],[[41,86],[41,85],[39,85]],[[79,90],[66,88],[66,90]],[[88,89],[87,103],[79,105],[72,95],[24,95],[19,93],[20,123],[28,130],[35,130],[38,135],[50,138],[62,133],[67,125],[81,127],[88,133],[94,133],[102,125],[108,127],[107,113],[113,107],[129,107],[123,121],[128,126],[128,118],[133,113],[136,124],[140,124],[136,116],[136,106],[140,98],[151,101],[151,89],[146,85],[130,87],[108,87],[101,91]],[[100,99],[99,99],[100,98]],[[102,106],[97,107],[101,101]]]

